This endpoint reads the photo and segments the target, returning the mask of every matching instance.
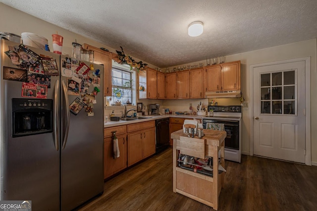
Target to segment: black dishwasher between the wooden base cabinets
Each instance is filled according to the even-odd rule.
[[[169,147],[169,118],[155,120],[156,152],[159,153]]]

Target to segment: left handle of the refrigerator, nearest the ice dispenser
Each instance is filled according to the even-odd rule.
[[[58,102],[58,92],[59,92],[59,81],[56,80],[54,87],[54,145],[56,151],[59,150],[59,102]]]

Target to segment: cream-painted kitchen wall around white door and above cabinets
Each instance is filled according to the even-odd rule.
[[[77,43],[83,44],[88,43],[96,47],[104,47],[110,52],[115,52],[101,43],[98,43],[92,39],[85,38],[81,35],[74,34],[70,31],[57,27],[46,21],[40,20],[36,17],[28,15],[24,12],[11,8],[3,3],[0,3],[0,26],[1,32],[9,32],[13,34],[20,35],[22,32],[32,32],[40,36],[46,37],[49,40],[49,46],[52,51],[52,34],[56,31],[58,34],[64,37],[63,41],[63,54],[71,54],[71,43],[77,40]],[[93,30],[93,29],[92,29]],[[312,140],[312,163],[317,165],[317,42],[316,39],[302,41],[298,43],[292,43],[288,45],[276,46],[267,49],[261,49],[252,52],[238,53],[234,55],[226,56],[226,62],[241,60],[241,91],[246,102],[250,103],[250,65],[280,61],[292,58],[300,58],[311,56],[311,140]],[[205,60],[197,61],[191,64],[206,64]],[[151,64],[150,64],[151,65]],[[183,64],[179,66],[190,65]],[[152,65],[152,67],[154,67]],[[170,70],[173,67],[169,68]],[[167,90],[168,91],[168,90]],[[218,101],[218,105],[237,105],[239,103],[237,99],[214,99]],[[189,104],[192,103],[193,106],[199,104],[199,102],[208,104],[210,99],[201,100],[140,100],[146,105],[152,103],[158,103],[161,107],[169,107],[171,110],[189,110]],[[111,108],[110,108],[111,109]],[[118,114],[121,113],[122,108],[116,109]],[[252,114],[250,114],[250,108],[243,108],[242,117],[242,151],[245,154],[250,153],[250,124],[253,123]]]

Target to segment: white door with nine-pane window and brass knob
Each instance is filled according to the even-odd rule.
[[[254,155],[305,163],[305,61],[253,70]]]

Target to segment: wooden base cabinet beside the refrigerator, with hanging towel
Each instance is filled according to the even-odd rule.
[[[113,158],[113,137],[112,131],[116,131],[118,146],[120,151],[119,158]],[[127,136],[126,126],[116,126],[104,129],[104,178],[108,178],[113,174],[127,167]]]

